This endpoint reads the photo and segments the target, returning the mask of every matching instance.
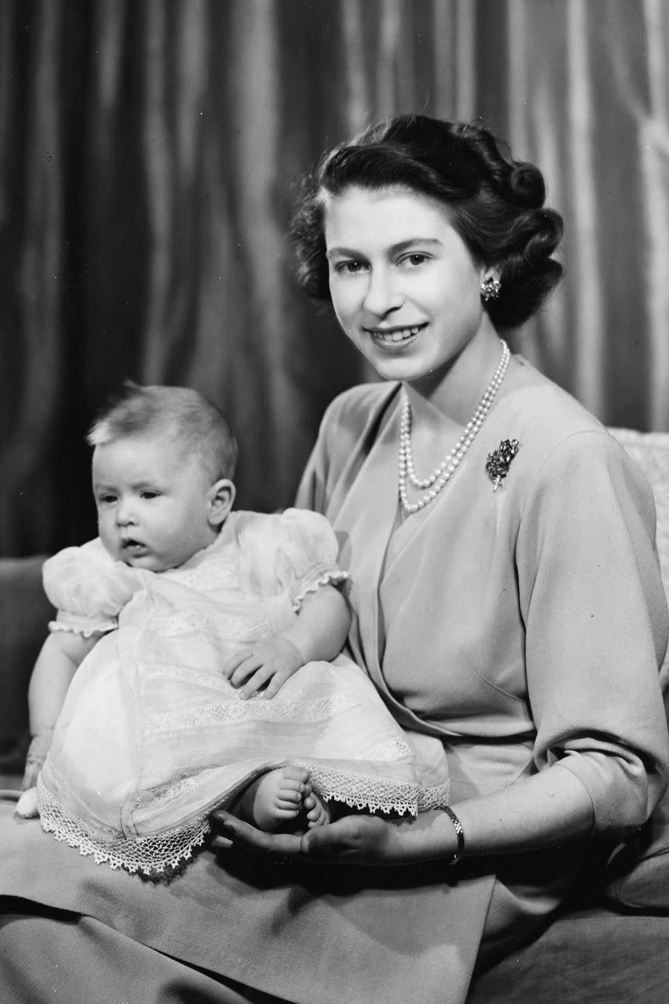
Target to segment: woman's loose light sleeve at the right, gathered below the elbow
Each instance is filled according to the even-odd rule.
[[[516,556],[537,766],[579,778],[596,830],[640,826],[667,785],[667,605],[651,489],[606,432],[544,462]]]

